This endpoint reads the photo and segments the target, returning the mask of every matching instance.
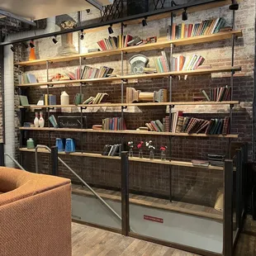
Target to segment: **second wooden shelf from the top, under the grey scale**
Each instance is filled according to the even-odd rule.
[[[43,85],[58,85],[58,84],[73,84],[73,83],[99,83],[99,82],[113,82],[121,80],[135,80],[135,79],[150,79],[150,78],[168,78],[170,76],[179,75],[197,75],[197,74],[210,74],[210,73],[223,73],[231,71],[240,71],[240,67],[223,67],[223,68],[212,68],[212,69],[196,69],[196,70],[184,70],[184,71],[172,71],[166,73],[143,73],[143,74],[132,74],[126,76],[119,76],[113,78],[91,78],[83,80],[64,80],[56,82],[44,82],[44,83],[23,83],[19,84],[19,87],[36,87]]]

